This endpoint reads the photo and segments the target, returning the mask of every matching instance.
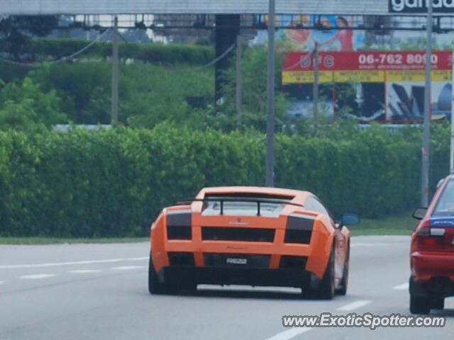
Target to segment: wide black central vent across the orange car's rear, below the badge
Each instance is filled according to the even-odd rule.
[[[273,242],[275,229],[202,227],[201,238],[205,241]]]

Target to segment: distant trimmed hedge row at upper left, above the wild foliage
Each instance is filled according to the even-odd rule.
[[[81,39],[50,39],[35,38],[29,42],[28,53],[35,60],[52,57],[60,59],[82,50],[88,45],[87,40]],[[1,48],[6,44],[0,43],[0,52],[9,52]],[[207,64],[214,59],[214,50],[208,46],[200,45],[163,45],[160,43],[120,44],[119,50],[122,58],[133,58],[144,62],[165,63],[165,64]],[[111,57],[112,45],[109,42],[96,42],[89,50],[84,52],[82,57]]]

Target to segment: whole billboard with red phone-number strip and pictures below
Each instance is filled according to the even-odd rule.
[[[452,58],[452,52],[433,52],[431,56],[434,120],[451,115]],[[425,62],[425,52],[419,51],[320,52],[319,83],[332,115],[350,115],[362,123],[419,123],[424,109]],[[312,53],[289,52],[282,66],[282,84],[295,98],[295,107],[308,107],[313,83]]]

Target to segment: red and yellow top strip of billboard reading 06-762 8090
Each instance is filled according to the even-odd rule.
[[[452,52],[433,52],[433,81],[450,79]],[[420,81],[424,77],[426,53],[420,51],[320,52],[320,81],[385,82]],[[402,72],[406,71],[406,72]],[[289,52],[282,67],[284,84],[313,81],[314,56],[311,52]]]

